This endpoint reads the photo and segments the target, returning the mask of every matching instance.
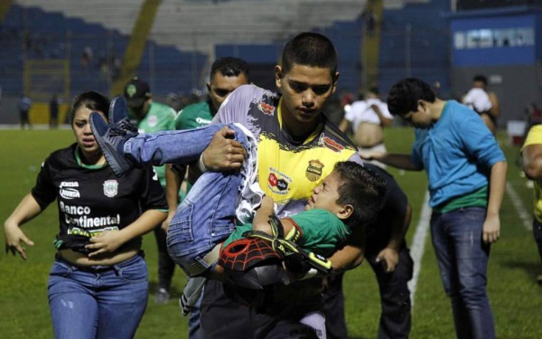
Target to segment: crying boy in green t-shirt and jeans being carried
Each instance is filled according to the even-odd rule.
[[[228,245],[252,229],[272,234],[269,218],[274,215],[274,201],[263,196],[255,183],[256,145],[248,130],[237,124],[215,124],[138,135],[125,120],[124,111],[124,101],[118,98],[112,104],[109,126],[98,114],[91,116],[95,138],[117,175],[141,164],[191,162],[223,128],[235,131],[235,139],[247,149],[248,159],[241,171],[203,173],[171,221],[167,234],[170,255],[190,277],[216,277],[222,272],[215,266],[216,259],[210,259],[222,242]],[[314,189],[305,212],[281,219],[283,233],[294,234],[289,238],[304,250],[330,257],[353,227],[363,227],[378,213],[384,195],[385,181],[375,172],[354,162],[339,162]],[[243,201],[247,197],[250,201]],[[251,220],[251,207],[258,206]],[[236,218],[240,221],[237,226]]]

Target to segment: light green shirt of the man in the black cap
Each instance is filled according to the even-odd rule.
[[[175,129],[175,117],[177,113],[170,106],[152,101],[149,112],[138,122],[139,133],[154,133]],[[165,165],[154,166],[160,185],[166,187]],[[184,192],[179,190],[179,201],[184,199]]]

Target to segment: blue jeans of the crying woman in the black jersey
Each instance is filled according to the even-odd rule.
[[[57,259],[48,286],[55,338],[132,338],[147,306],[147,277],[141,255],[93,268]]]

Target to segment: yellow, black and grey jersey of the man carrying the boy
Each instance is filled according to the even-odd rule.
[[[324,114],[305,140],[282,129],[281,96],[254,86],[235,89],[218,110],[215,123],[241,123],[258,140],[258,181],[278,204],[280,217],[305,210],[313,189],[339,161],[362,163],[356,146]]]

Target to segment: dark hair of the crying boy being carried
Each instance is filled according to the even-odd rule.
[[[335,163],[339,176],[338,204],[351,204],[352,215],[345,220],[351,229],[371,222],[384,206],[386,181],[363,165],[353,161]]]

